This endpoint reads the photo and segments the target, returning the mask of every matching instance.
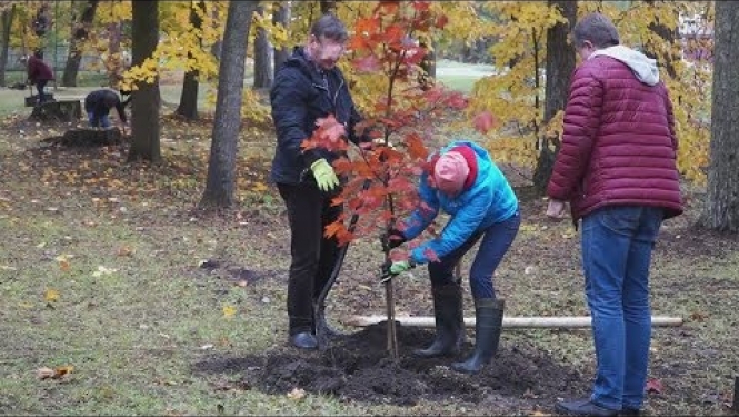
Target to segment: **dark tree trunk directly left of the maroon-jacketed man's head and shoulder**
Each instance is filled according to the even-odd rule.
[[[570,88],[570,76],[575,70],[575,48],[567,42],[570,28],[577,19],[576,0],[549,0],[549,6],[557,6],[569,24],[557,23],[547,31],[547,88],[545,91],[543,122],[547,125],[557,112],[565,109]],[[533,187],[540,195],[547,191],[547,185],[555,167],[555,156],[559,150],[559,136],[547,137],[542,129],[539,158],[533,171]],[[555,146],[551,149],[550,145]]]

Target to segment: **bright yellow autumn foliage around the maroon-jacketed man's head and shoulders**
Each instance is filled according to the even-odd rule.
[[[661,39],[651,26],[660,22],[677,28],[680,13],[692,16],[702,11],[706,4],[688,1],[578,2],[578,16],[600,11],[613,20],[623,44],[648,48],[657,53],[660,76],[675,102],[680,141],[678,168],[687,179],[698,182],[706,180],[703,168],[708,161],[710,68],[673,59],[676,77],[670,77],[665,62],[669,57],[680,57],[680,44]],[[561,131],[561,116],[543,126],[546,86],[542,68],[547,29],[565,20],[559,10],[546,1],[496,1],[486,2],[485,8],[500,19],[489,32],[498,37],[490,53],[499,72],[475,85],[469,115],[482,110],[496,115],[502,128],[488,135],[487,147],[498,159],[533,167],[539,153],[533,145],[539,136],[545,131]],[[709,21],[712,21],[710,16]]]

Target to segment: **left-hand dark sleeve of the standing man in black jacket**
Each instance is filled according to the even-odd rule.
[[[318,152],[303,152],[300,145],[310,137],[303,129],[308,116],[308,106],[302,86],[310,85],[301,80],[298,69],[283,68],[274,79],[271,91],[272,120],[277,130],[277,146],[290,153],[302,156],[306,167],[321,158]]]

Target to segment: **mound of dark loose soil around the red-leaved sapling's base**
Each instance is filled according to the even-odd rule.
[[[463,375],[450,368],[472,349],[467,344],[460,358],[418,359],[411,353],[426,347],[433,337],[428,329],[398,325],[400,358],[386,350],[386,325],[364,328],[331,340],[322,351],[299,351],[278,347],[268,351],[261,366],[246,370],[244,386],[270,394],[296,388],[307,393],[336,395],[344,400],[412,406],[428,401],[465,403],[501,400],[510,409],[551,406],[558,397],[587,393],[589,378],[557,364],[548,354],[531,346],[510,346],[503,340],[497,357],[478,375]],[[471,334],[471,332],[470,332]],[[258,364],[260,360],[246,360]]]

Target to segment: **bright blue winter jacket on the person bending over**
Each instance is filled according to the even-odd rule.
[[[416,264],[430,261],[428,251],[437,258],[451,254],[465,244],[476,231],[485,230],[493,224],[509,219],[518,211],[518,199],[508,180],[480,146],[470,141],[455,141],[442,148],[443,155],[450,149],[465,145],[475,150],[478,173],[471,187],[455,197],[448,197],[429,186],[427,173],[421,175],[419,195],[427,206],[416,209],[406,221],[403,235],[411,240],[418,237],[443,210],[451,216],[441,235],[416,247],[410,259]]]

